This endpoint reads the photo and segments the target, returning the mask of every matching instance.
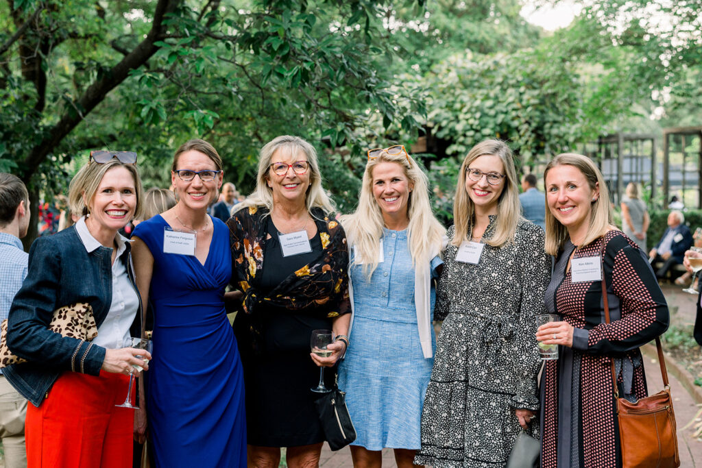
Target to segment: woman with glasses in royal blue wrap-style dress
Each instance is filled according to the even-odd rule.
[[[132,238],[143,304],[154,311],[154,359],[140,408],[158,467],[246,466],[244,377],[224,307],[229,230],[206,213],[222,179],[212,145],[185,143],[171,170],[178,203],[141,222]]]

